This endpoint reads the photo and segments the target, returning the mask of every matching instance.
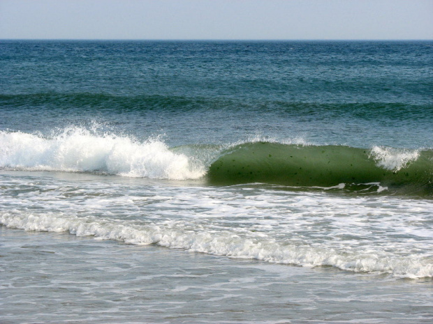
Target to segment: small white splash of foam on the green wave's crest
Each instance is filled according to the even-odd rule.
[[[374,146],[371,151],[371,157],[376,161],[378,166],[391,171],[399,171],[402,168],[409,167],[409,164],[418,159],[419,156],[420,152],[416,150],[381,146]]]

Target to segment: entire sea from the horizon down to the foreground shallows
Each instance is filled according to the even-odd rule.
[[[0,41],[0,323],[433,323],[433,41]]]

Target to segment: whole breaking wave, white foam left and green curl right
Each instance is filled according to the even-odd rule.
[[[159,139],[68,128],[52,137],[0,132],[3,169],[79,171],[135,178],[204,179],[210,185],[266,183],[432,195],[433,151],[253,141],[169,148]]]

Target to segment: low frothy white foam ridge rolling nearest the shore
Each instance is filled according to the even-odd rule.
[[[433,277],[433,264],[418,256],[395,256],[375,251],[337,251],[326,247],[278,242],[261,236],[242,236],[232,231],[191,231],[182,221],[161,224],[117,222],[114,219],[77,217],[55,213],[36,215],[19,210],[0,213],[0,224],[27,231],[66,231],[99,240],[119,240],[133,245],[156,244],[238,259],[257,259],[316,267],[331,265],[354,272],[389,273],[395,277]]]

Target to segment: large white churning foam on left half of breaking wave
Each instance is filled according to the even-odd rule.
[[[135,141],[82,128],[45,138],[23,132],[0,132],[0,167],[23,170],[89,171],[136,178],[196,179],[205,168],[170,151],[158,139]]]

